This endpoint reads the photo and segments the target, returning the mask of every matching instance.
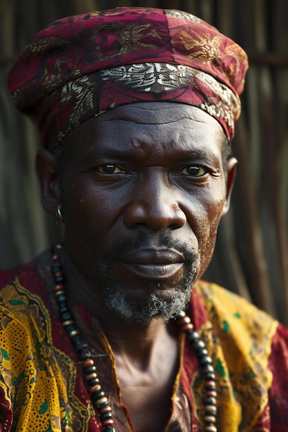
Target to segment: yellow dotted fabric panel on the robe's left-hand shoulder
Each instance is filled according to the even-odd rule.
[[[0,302],[0,386],[13,406],[12,430],[86,431],[87,409],[74,395],[75,365],[53,346],[44,304],[17,280],[1,291]]]

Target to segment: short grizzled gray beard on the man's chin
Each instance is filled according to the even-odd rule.
[[[106,308],[129,324],[148,324],[153,318],[162,318],[164,322],[169,322],[180,311],[187,308],[191,299],[191,289],[197,272],[196,268],[197,266],[193,264],[182,283],[173,288],[174,293],[171,296],[168,296],[166,292],[162,292],[157,283],[147,281],[148,286],[152,287],[154,285],[154,289],[152,292],[149,290],[150,292],[144,295],[140,302],[131,300],[117,286],[111,288],[108,277],[106,278],[107,284],[102,291]]]

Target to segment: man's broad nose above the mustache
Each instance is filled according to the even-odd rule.
[[[167,178],[151,177],[135,186],[124,210],[124,224],[128,228],[143,225],[151,230],[182,228],[186,215],[180,206],[181,191]]]

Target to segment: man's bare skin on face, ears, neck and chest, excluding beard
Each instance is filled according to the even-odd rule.
[[[175,293],[187,267],[178,244],[198,257],[195,282],[229,208],[236,159],[223,166],[224,142],[206,112],[145,102],[114,108],[70,132],[62,190],[52,155],[37,155],[44,208],[52,214],[63,208],[68,300],[84,302],[102,323],[137,432],[162,431],[169,420],[177,333],[162,318],[131,325],[107,311],[102,256],[111,286],[136,302],[151,290],[166,299]],[[129,249],[136,237],[140,246]],[[175,246],[164,246],[164,238]]]

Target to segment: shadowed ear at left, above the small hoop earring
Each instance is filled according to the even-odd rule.
[[[48,150],[38,151],[35,159],[35,168],[41,191],[41,202],[46,212],[56,213],[57,206],[61,202],[59,188],[59,173],[55,159]]]

